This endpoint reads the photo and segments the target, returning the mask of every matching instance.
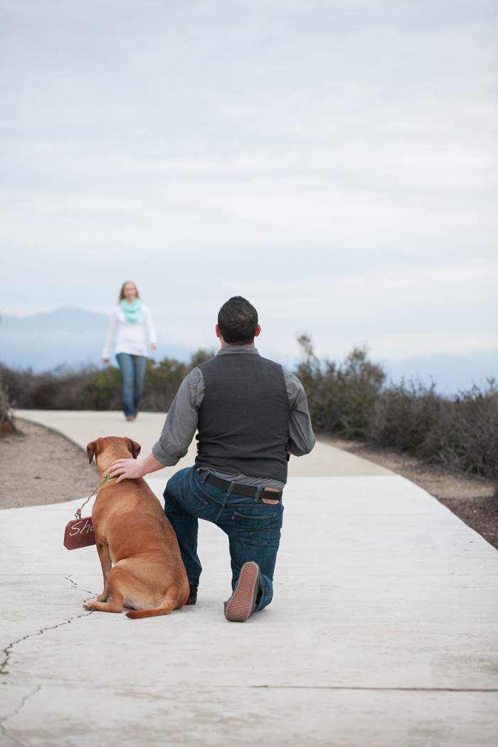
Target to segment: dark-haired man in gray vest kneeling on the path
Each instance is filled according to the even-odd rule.
[[[196,604],[202,571],[198,519],[228,534],[233,594],[225,617],[233,622],[272,601],[289,453],[308,454],[315,444],[302,384],[261,358],[254,344],[260,332],[254,306],[241,296],[228,300],[216,326],[221,348],[182,382],[152,454],[143,462],[118,459],[111,468],[119,483],[173,466],[198,430],[196,465],[168,481],[164,511],[187,569],[187,604]]]

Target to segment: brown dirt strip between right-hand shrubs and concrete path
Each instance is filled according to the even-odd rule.
[[[498,495],[491,480],[476,475],[458,474],[440,465],[426,465],[413,456],[390,449],[381,449],[361,441],[317,436],[320,441],[370,459],[382,467],[406,477],[415,485],[447,506],[469,527],[479,532],[498,549]]]

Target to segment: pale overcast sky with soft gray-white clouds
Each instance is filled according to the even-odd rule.
[[[0,0],[0,310],[377,359],[498,347],[497,18],[481,0]]]

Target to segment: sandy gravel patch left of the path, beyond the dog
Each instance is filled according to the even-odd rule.
[[[0,509],[63,503],[90,495],[99,471],[72,441],[16,418],[19,435],[0,437]]]

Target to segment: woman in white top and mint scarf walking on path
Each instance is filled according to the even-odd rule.
[[[125,282],[119,294],[119,306],[111,316],[102,360],[109,362],[111,346],[116,338],[114,353],[121,369],[122,409],[127,421],[137,417],[138,403],[143,394],[147,363],[146,332],[150,346],[155,350],[155,329],[149,306],[140,301],[135,284]]]

